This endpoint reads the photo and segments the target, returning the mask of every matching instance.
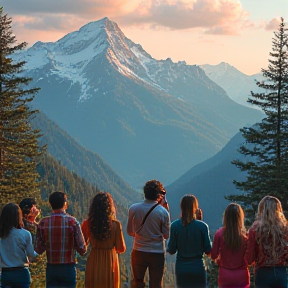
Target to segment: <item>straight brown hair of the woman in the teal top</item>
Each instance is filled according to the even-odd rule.
[[[183,226],[187,226],[196,218],[196,210],[198,209],[198,200],[192,194],[184,195],[180,202],[181,221]]]

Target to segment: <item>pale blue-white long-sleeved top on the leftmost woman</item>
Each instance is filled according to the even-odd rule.
[[[8,237],[0,238],[0,268],[28,266],[34,252],[31,233],[24,229],[12,228]]]

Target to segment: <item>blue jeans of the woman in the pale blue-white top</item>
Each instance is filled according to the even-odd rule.
[[[31,282],[28,268],[17,270],[2,270],[2,288],[29,288]]]

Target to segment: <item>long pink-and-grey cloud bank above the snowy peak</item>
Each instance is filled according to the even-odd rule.
[[[239,33],[248,19],[239,0],[2,0],[8,13],[27,29],[66,29],[109,17],[120,25],[156,29],[202,28],[206,34]],[[22,17],[29,21],[19,22]],[[14,18],[15,17],[15,18]],[[28,19],[28,18],[27,18]],[[26,20],[27,20],[26,19]],[[72,25],[72,26],[71,26]],[[79,27],[78,27],[79,28]]]

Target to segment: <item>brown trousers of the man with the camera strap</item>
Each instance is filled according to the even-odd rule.
[[[144,288],[144,276],[148,268],[149,288],[162,288],[165,254],[132,250],[132,288]],[[103,287],[104,288],[104,287]]]

